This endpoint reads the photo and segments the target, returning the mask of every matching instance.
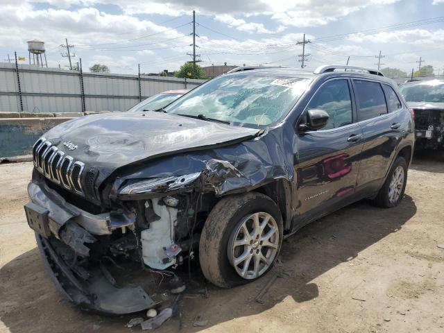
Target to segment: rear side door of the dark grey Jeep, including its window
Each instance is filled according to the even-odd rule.
[[[357,191],[373,194],[384,182],[402,137],[402,103],[390,85],[362,79],[352,83],[357,120],[364,133]]]

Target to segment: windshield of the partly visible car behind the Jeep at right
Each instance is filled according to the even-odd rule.
[[[407,83],[400,87],[400,91],[407,102],[444,103],[444,81]]]

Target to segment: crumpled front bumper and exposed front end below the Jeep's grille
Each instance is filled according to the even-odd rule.
[[[180,183],[183,187],[197,179],[181,178]],[[120,201],[117,210],[91,214],[65,201],[47,182],[34,171],[28,186],[33,202],[25,211],[51,278],[69,301],[87,310],[126,314],[184,291],[180,275],[193,265],[205,212],[214,199],[185,191]],[[122,195],[142,190],[128,185]],[[153,279],[159,288],[150,292]]]

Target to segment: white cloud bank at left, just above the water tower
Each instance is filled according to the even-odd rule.
[[[149,44],[142,49],[153,48],[153,45],[162,40],[173,42],[163,44],[185,44],[187,38],[180,40],[182,33],[176,29],[169,31],[168,27],[154,24],[146,19],[139,19],[130,15],[110,15],[96,8],[80,8],[77,10],[54,9],[35,10],[28,3],[21,6],[4,6],[0,20],[0,44],[17,46],[26,40],[38,38],[46,42],[47,49],[62,44],[65,37],[76,45],[96,45],[101,47],[115,47],[119,40],[127,40],[136,36],[151,35],[147,42],[140,38],[126,44]],[[38,29],[33,27],[38,26]],[[165,32],[163,32],[165,31]],[[160,33],[158,35],[153,35]],[[104,46],[103,44],[112,43]],[[125,43],[123,43],[125,44]],[[121,46],[121,44],[120,44]],[[159,46],[157,44],[157,46]]]

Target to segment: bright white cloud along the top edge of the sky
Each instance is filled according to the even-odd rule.
[[[44,0],[35,1],[42,2]],[[200,15],[214,15],[216,19],[221,15],[231,15],[232,17],[268,15],[283,26],[298,27],[322,26],[368,6],[387,5],[397,1],[399,0],[148,0],[142,2],[139,0],[46,0],[47,3],[60,8],[69,8],[70,4],[83,6],[93,6],[96,3],[114,4],[121,8],[126,15],[179,16],[189,15],[192,10],[196,10]],[[263,31],[263,33],[268,31],[262,24],[248,24],[243,19],[233,19],[233,24],[236,23],[236,20],[240,21],[237,21],[238,25],[234,27],[240,27],[241,31]]]

